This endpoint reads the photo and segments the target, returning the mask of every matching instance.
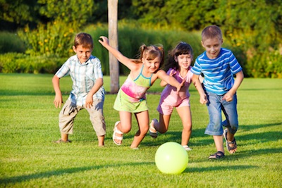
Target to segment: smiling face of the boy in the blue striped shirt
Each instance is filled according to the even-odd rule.
[[[219,56],[222,43],[223,39],[219,39],[217,37],[202,41],[202,46],[206,49],[208,58],[214,59]]]

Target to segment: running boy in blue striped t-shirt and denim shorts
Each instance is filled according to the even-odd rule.
[[[191,71],[193,83],[200,82],[204,75],[204,89],[200,93],[200,103],[206,104],[209,111],[209,125],[205,134],[212,135],[216,145],[216,153],[209,159],[219,159],[224,156],[223,137],[229,153],[237,151],[234,134],[238,130],[236,91],[243,81],[243,70],[229,49],[221,48],[223,37],[221,29],[210,25],[202,30],[202,46],[205,51],[197,57]],[[236,75],[234,79],[233,75]],[[195,84],[199,85],[199,84]],[[222,121],[221,111],[226,116]],[[226,127],[223,130],[223,127]]]

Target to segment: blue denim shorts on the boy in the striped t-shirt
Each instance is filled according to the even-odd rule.
[[[235,134],[238,130],[237,95],[234,94],[233,100],[227,102],[222,100],[224,95],[217,95],[207,92],[207,109],[209,111],[209,125],[204,134],[219,136],[223,134],[223,127],[228,128],[228,132]],[[226,116],[222,121],[221,112]]]

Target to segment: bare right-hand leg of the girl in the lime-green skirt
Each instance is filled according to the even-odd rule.
[[[135,113],[135,117],[138,123],[139,130],[136,132],[133,143],[131,144],[131,148],[135,149],[139,146],[140,142],[144,139],[146,136],[148,130],[149,130],[149,113],[148,111],[143,111],[140,113]]]

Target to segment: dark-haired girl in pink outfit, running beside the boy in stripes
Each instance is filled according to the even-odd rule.
[[[191,150],[188,146],[188,142],[192,132],[189,101],[189,86],[193,75],[190,71],[192,60],[192,47],[185,42],[180,42],[170,54],[168,54],[168,64],[165,66],[164,70],[167,71],[168,75],[175,77],[180,83],[184,82],[184,84],[180,91],[176,92],[175,87],[161,80],[161,86],[166,87],[163,92],[161,92],[161,99],[157,108],[157,111],[159,111],[159,122],[157,119],[153,119],[149,127],[149,134],[153,138],[157,138],[157,132],[165,133],[168,130],[173,108],[176,108],[183,124],[181,145],[187,151]]]

